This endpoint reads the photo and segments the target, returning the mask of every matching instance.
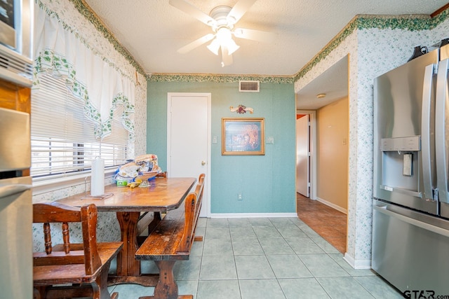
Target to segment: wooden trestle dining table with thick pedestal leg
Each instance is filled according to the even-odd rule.
[[[105,186],[105,195],[92,197],[79,194],[58,200],[62,204],[81,207],[95,204],[98,211],[116,211],[121,230],[123,249],[117,256],[116,274],[109,275],[109,284],[135,283],[154,286],[158,277],[140,271],[140,260],[135,259],[138,249],[138,221],[142,212],[156,215],[177,209],[196,183],[195,178],[159,178],[149,181],[147,187]],[[154,218],[155,221],[158,217]],[[152,278],[151,278],[152,276]]]

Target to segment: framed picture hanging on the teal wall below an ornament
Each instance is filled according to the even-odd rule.
[[[222,155],[264,155],[264,118],[222,118]]]

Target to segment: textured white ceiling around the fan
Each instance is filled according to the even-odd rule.
[[[170,6],[168,0],[85,0],[147,73],[294,75],[357,14],[434,13],[445,0],[257,0],[236,27],[275,34],[272,43],[236,39],[234,64],[206,45],[177,49],[211,33],[210,27]],[[209,13],[236,0],[189,0]]]

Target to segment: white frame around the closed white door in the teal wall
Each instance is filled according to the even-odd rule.
[[[211,157],[211,146],[210,146],[210,134],[211,134],[211,127],[212,127],[212,94],[210,92],[167,92],[167,169],[171,168],[171,159],[170,152],[171,152],[171,113],[170,113],[170,103],[171,103],[171,97],[206,97],[207,98],[207,113],[208,113],[208,127],[207,127],[207,162],[206,162],[206,217],[210,218],[210,157]],[[170,176],[170,173],[168,173],[168,176]],[[198,179],[198,178],[196,178]]]

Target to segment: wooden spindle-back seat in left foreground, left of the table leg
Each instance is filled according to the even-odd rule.
[[[33,253],[34,298],[116,299],[107,291],[111,260],[123,242],[97,243],[97,207],[81,208],[58,202],[33,204],[33,222],[43,223],[45,252]],[[81,223],[83,243],[71,244],[69,223]],[[63,244],[52,246],[50,223],[62,223]]]

